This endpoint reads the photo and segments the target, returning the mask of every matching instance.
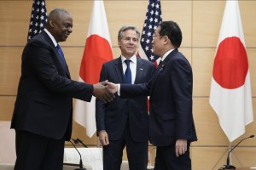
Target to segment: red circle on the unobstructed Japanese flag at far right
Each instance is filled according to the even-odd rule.
[[[223,88],[239,88],[248,71],[247,52],[238,37],[228,37],[219,43],[213,66],[213,78]]]

